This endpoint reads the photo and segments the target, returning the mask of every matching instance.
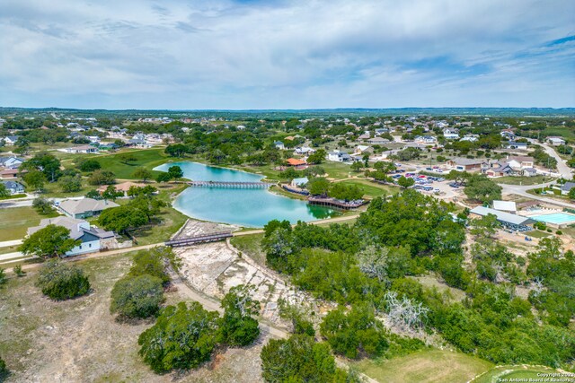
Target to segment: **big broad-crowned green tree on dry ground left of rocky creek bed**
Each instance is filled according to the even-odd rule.
[[[155,325],[138,338],[139,354],[158,373],[193,369],[208,361],[217,344],[217,312],[198,302],[180,302],[161,311]]]

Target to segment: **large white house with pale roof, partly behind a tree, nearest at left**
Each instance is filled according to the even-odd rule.
[[[66,257],[93,253],[109,248],[118,248],[118,240],[113,231],[104,231],[95,226],[90,226],[90,223],[84,220],[76,220],[75,218],[65,216],[41,220],[39,226],[28,229],[28,235],[30,236],[50,224],[65,227],[70,231],[71,239],[80,241],[79,245],[66,252]]]

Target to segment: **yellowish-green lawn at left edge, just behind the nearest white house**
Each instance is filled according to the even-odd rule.
[[[30,206],[0,209],[0,242],[24,238],[29,227],[38,226],[42,218],[50,216],[57,214],[40,215]]]

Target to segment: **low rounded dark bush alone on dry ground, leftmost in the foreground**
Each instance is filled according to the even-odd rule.
[[[36,285],[53,300],[69,300],[90,292],[90,282],[82,269],[56,259],[42,265]]]

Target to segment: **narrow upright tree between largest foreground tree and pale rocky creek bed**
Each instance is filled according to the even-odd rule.
[[[260,335],[258,321],[252,318],[258,315],[260,302],[252,300],[251,292],[252,286],[240,284],[231,288],[222,300],[225,311],[220,331],[226,344],[245,346]]]

